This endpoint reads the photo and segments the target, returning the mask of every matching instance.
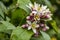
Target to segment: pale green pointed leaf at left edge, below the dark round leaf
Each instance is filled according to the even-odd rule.
[[[13,30],[15,29],[15,26],[9,23],[8,21],[1,21],[2,24],[0,24],[0,31],[2,30]]]

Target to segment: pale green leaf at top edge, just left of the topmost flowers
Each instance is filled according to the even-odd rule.
[[[29,13],[29,9],[26,5],[31,3],[30,0],[18,0],[17,3],[20,8],[24,9],[27,13]]]

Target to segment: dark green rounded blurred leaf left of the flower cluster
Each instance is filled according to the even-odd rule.
[[[24,20],[24,18],[27,16],[27,13],[23,9],[16,9],[15,11],[12,12],[12,18],[11,21],[14,25],[21,25],[21,23]]]

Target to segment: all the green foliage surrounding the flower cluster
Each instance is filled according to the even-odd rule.
[[[31,30],[23,29],[30,9],[29,3],[47,5],[53,20],[48,21],[50,29],[40,31],[38,37]],[[60,1],[59,0],[0,0],[0,40],[60,40]]]

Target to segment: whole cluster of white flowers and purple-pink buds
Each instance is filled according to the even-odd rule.
[[[32,29],[35,34],[38,34],[40,30],[48,30],[49,27],[45,22],[52,20],[52,14],[47,6],[30,3],[27,7],[31,9],[31,13],[26,17],[27,23],[22,25],[22,27],[28,28],[28,30]]]

